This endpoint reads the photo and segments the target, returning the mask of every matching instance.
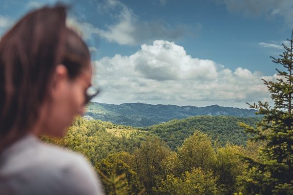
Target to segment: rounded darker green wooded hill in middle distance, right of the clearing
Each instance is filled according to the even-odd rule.
[[[167,142],[172,150],[176,150],[183,141],[199,130],[208,134],[213,141],[221,145],[232,143],[244,145],[249,135],[239,127],[238,122],[254,126],[261,117],[230,116],[196,116],[185,119],[174,119],[162,124],[146,127],[147,135],[156,135]]]

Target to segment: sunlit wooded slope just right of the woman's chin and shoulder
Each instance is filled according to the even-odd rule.
[[[132,153],[135,148],[140,146],[141,140],[145,139],[140,135],[131,139],[116,137],[108,133],[106,128],[123,129],[126,127],[101,120],[87,120],[83,117],[77,117],[68,128],[63,139],[44,136],[42,140],[82,153],[95,165],[96,162],[101,161],[111,153],[121,151]]]

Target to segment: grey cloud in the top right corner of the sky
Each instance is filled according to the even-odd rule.
[[[280,16],[291,28],[293,25],[292,0],[217,0],[226,5],[231,12],[245,16]]]

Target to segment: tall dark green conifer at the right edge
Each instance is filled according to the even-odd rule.
[[[265,141],[264,148],[259,150],[258,158],[244,157],[248,165],[247,172],[238,177],[243,195],[293,195],[293,31],[289,46],[282,44],[285,52],[280,58],[272,61],[281,65],[276,69],[276,81],[263,79],[274,102],[250,104],[263,115],[263,120],[256,128],[240,124],[246,132],[254,134],[254,141]]]

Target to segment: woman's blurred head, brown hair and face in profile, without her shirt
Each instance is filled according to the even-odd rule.
[[[38,133],[61,136],[64,132],[58,131],[82,113],[91,80],[90,55],[65,20],[65,6],[43,7],[25,15],[0,40],[4,145],[41,128]]]

